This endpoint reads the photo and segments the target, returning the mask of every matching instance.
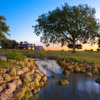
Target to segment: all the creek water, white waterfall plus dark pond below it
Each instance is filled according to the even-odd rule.
[[[59,74],[57,78],[48,77],[47,86],[41,89],[37,100],[100,100],[100,84],[95,82],[97,76],[87,77],[82,73],[73,73],[65,78],[55,60],[38,59],[36,63],[39,70],[47,76]],[[67,79],[69,85],[58,85],[61,79]]]

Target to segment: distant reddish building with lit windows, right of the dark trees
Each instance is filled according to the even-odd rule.
[[[35,44],[30,44],[27,41],[25,42],[20,42],[19,44],[19,49],[28,49],[28,50],[34,50]]]

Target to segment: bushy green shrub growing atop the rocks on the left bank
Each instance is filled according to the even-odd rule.
[[[21,52],[18,52],[16,50],[13,50],[13,51],[6,53],[5,56],[8,59],[15,59],[17,61],[23,61],[25,58],[25,56]]]

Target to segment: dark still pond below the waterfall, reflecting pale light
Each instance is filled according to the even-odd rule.
[[[68,78],[49,78],[47,87],[41,90],[37,100],[100,100],[100,84],[95,82],[95,78],[78,73],[70,74]],[[60,79],[67,79],[70,84],[60,86],[57,84]]]

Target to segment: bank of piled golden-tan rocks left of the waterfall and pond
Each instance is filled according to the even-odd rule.
[[[21,100],[26,92],[34,94],[47,82],[44,73],[38,70],[31,58],[16,61],[0,57],[1,61],[16,64],[14,68],[0,68],[0,100]]]

